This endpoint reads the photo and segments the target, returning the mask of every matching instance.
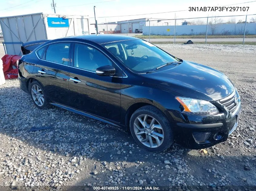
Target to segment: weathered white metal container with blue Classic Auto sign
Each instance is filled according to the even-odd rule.
[[[22,55],[21,43],[90,34],[89,17],[82,15],[35,13],[1,17],[0,24],[6,53],[12,55]]]

